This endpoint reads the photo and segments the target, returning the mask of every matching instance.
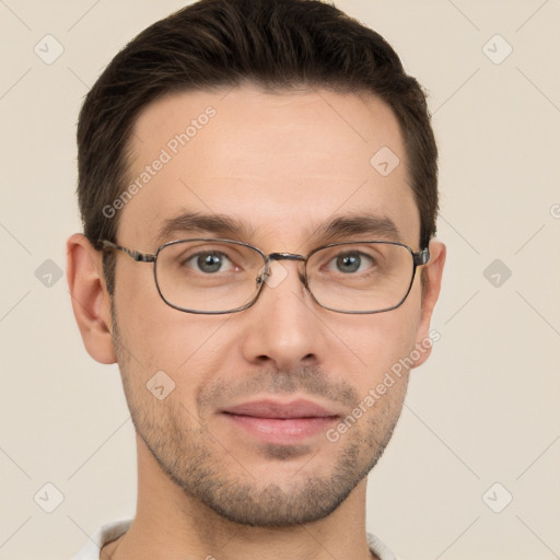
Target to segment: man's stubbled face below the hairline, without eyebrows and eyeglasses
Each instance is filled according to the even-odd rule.
[[[118,244],[154,253],[172,240],[226,236],[267,254],[306,255],[339,241],[317,235],[322,224],[366,214],[393,221],[398,237],[364,232],[351,238],[421,248],[402,139],[385,104],[325,91],[225,93],[167,96],[140,115],[130,182],[162,158],[162,149],[171,159],[156,173],[152,167],[153,176],[121,211]],[[215,115],[198,119],[185,145],[174,143],[208,106]],[[370,163],[383,147],[400,159],[388,176]],[[229,217],[246,228],[159,237],[170,219],[192,212]],[[314,303],[300,280],[300,262],[284,260],[282,267],[288,276],[265,285],[248,310],[196,315],[162,301],[153,265],[117,255],[116,352],[142,444],[189,497],[252,525],[318,520],[349,495],[390,439],[408,372],[395,376],[337,441],[327,431],[352,416],[425,336],[419,273],[400,307],[352,315]],[[147,383],[162,371],[175,388],[159,399]],[[322,407],[327,418],[287,421],[270,412],[278,405],[296,416],[293,404],[302,400]],[[255,416],[247,418],[241,405]]]

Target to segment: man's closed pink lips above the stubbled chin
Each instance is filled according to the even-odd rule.
[[[304,399],[243,402],[222,410],[222,415],[257,440],[280,445],[302,443],[340,418],[336,411]]]

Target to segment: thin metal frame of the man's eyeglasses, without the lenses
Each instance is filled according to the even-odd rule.
[[[265,273],[262,276],[258,276],[257,279],[256,279],[257,280],[257,284],[260,284],[260,285],[258,288],[257,293],[255,294],[255,298],[253,298],[253,300],[250,302],[246,303],[245,305],[242,305],[241,307],[235,307],[234,310],[229,310],[229,311],[198,311],[198,310],[189,310],[187,307],[180,307],[178,305],[175,305],[172,302],[170,302],[168,300],[166,300],[165,296],[163,295],[161,289],[160,289],[160,283],[158,282],[158,272],[156,272],[158,255],[160,254],[160,252],[162,249],[164,249],[165,247],[167,247],[170,245],[176,245],[176,244],[179,244],[179,243],[194,242],[194,241],[205,241],[205,242],[208,241],[208,242],[213,242],[213,243],[215,243],[215,242],[225,242],[225,243],[231,243],[231,244],[234,244],[234,245],[243,245],[244,247],[247,247],[247,248],[250,248],[253,250],[256,250],[262,257],[262,260],[265,262]],[[244,243],[242,241],[221,240],[221,238],[213,238],[213,237],[196,237],[196,238],[189,238],[189,240],[170,241],[167,243],[164,243],[163,245],[160,245],[158,247],[158,249],[155,250],[155,253],[141,253],[141,252],[136,250],[136,249],[129,249],[127,247],[122,247],[121,245],[117,245],[116,243],[113,243],[113,242],[107,241],[107,240],[101,240],[100,243],[103,246],[103,250],[107,250],[107,249],[120,250],[125,255],[128,255],[130,258],[136,260],[137,262],[153,262],[153,265],[154,265],[153,266],[153,277],[154,277],[154,281],[155,281],[155,287],[158,288],[158,293],[160,294],[161,299],[170,307],[173,307],[173,308],[175,308],[177,311],[182,311],[182,312],[185,312],[185,313],[195,313],[195,314],[198,314],[198,315],[225,315],[228,313],[237,313],[240,311],[247,310],[248,307],[254,305],[256,303],[256,301],[258,300],[260,293],[262,292],[262,287],[266,283],[264,281],[264,277],[268,276],[269,265],[270,265],[270,262],[272,260],[301,260],[301,261],[303,261],[304,262],[303,277],[300,276],[300,279],[303,282],[303,285],[305,287],[307,292],[310,292],[310,294],[313,298],[313,300],[315,301],[315,303],[317,303],[317,305],[319,305],[320,307],[323,307],[325,310],[332,311],[332,312],[336,312],[336,313],[351,314],[351,315],[364,315],[364,314],[374,314],[374,313],[385,313],[387,311],[396,310],[397,307],[402,305],[402,303],[408,298],[408,294],[410,293],[410,290],[412,288],[412,283],[415,281],[417,268],[419,266],[427,265],[428,261],[430,260],[430,249],[429,249],[429,247],[424,247],[420,252],[415,253],[408,245],[405,245],[404,243],[399,243],[399,242],[394,242],[394,241],[365,241],[365,242],[364,241],[347,241],[347,242],[339,242],[339,243],[330,243],[328,245],[322,245],[320,247],[316,247],[307,256],[298,255],[298,254],[294,254],[294,253],[270,253],[269,255],[267,255],[262,250],[260,250],[258,247],[255,247],[255,246],[249,245],[248,243]],[[410,253],[410,255],[412,257],[413,268],[412,268],[412,275],[410,276],[410,283],[408,284],[408,289],[407,289],[405,295],[402,296],[402,299],[396,305],[393,305],[392,307],[386,307],[384,310],[376,310],[376,311],[343,311],[343,310],[341,311],[341,310],[335,310],[332,307],[327,307],[326,305],[323,305],[320,302],[317,301],[317,299],[315,298],[313,292],[310,290],[310,287],[308,287],[308,283],[307,283],[307,267],[306,267],[307,260],[310,259],[310,257],[312,255],[314,255],[318,250],[322,250],[322,249],[325,249],[325,248],[328,248],[328,247],[335,247],[337,245],[355,245],[355,244],[360,244],[360,243],[371,243],[371,244],[378,243],[378,244],[386,244],[386,245],[398,245],[398,246],[405,247]]]

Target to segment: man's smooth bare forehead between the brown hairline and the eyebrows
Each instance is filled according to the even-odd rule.
[[[417,243],[398,122],[372,95],[249,86],[173,94],[140,114],[129,154],[120,243],[152,249],[184,213],[230,217],[243,225],[240,237],[272,250],[355,214],[394,222],[400,241]]]

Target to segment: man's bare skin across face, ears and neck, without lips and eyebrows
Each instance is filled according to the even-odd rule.
[[[243,219],[249,231],[236,238],[265,253],[305,255],[320,242],[318,225],[357,213],[389,218],[398,241],[421,248],[401,135],[383,102],[249,85],[225,93],[175,94],[141,113],[130,177],[207,106],[217,110],[125,206],[117,243],[153,253],[163,221],[188,210]],[[370,164],[382,147],[400,159],[387,177]],[[221,410],[272,397],[306,398],[341,418],[351,413],[428,337],[445,247],[432,240],[430,250],[422,267],[428,288],[422,293],[418,271],[405,303],[390,312],[324,310],[301,282],[301,265],[282,261],[287,277],[266,285],[253,307],[195,315],[162,301],[153,265],[122,254],[112,310],[101,254],[73,235],[68,277],[80,331],[95,360],[118,361],[137,430],[137,515],[102,558],[371,558],[365,475],[390,439],[409,371],[337,442],[322,431],[299,444],[262,443]],[[415,366],[429,354],[421,352]],[[159,400],[145,384],[162,370],[175,390]]]

